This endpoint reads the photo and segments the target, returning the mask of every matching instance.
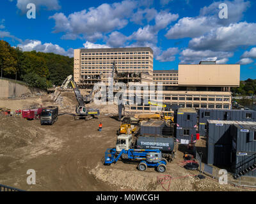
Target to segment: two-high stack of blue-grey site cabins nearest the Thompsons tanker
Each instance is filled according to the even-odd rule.
[[[177,111],[176,140],[182,144],[196,141],[196,110],[179,108]]]

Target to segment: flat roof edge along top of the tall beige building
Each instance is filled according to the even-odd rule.
[[[81,52],[153,52],[152,48],[150,47],[126,47],[126,48],[92,48],[86,49],[81,48]]]

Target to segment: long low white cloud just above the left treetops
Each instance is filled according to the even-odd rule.
[[[72,48],[68,49],[67,51],[60,47],[59,45],[54,45],[52,43],[44,43],[42,44],[41,41],[39,40],[26,40],[17,47],[22,48],[24,52],[30,52],[32,50],[36,50],[36,52],[52,52],[54,54],[60,54],[60,55],[65,55],[68,57],[73,57],[74,55],[74,50]]]

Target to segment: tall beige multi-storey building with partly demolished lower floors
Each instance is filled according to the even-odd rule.
[[[75,82],[82,87],[86,84],[93,85],[97,80],[90,82],[90,78],[99,79],[97,76],[101,76],[101,81],[108,83],[114,61],[118,72],[143,72],[153,76],[153,50],[149,47],[76,49]]]

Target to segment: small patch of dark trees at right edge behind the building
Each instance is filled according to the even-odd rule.
[[[241,96],[255,96],[256,95],[256,79],[248,78],[248,80],[241,81],[240,87],[232,88],[233,95]]]

